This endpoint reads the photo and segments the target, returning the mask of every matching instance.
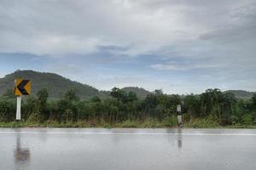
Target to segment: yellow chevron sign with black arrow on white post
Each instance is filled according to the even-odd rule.
[[[17,96],[16,120],[21,119],[21,96],[31,94],[31,81],[15,79],[15,96]]]

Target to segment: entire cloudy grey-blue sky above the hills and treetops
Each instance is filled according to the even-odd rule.
[[[17,69],[105,90],[256,91],[256,3],[0,0],[0,77]]]

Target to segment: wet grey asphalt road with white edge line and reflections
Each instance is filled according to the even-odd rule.
[[[0,128],[1,170],[255,170],[256,130]]]

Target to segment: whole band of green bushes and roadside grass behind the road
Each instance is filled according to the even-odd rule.
[[[184,127],[256,127],[256,95],[236,99],[234,94],[207,89],[200,95],[163,94],[154,90],[145,99],[113,88],[108,97],[80,99],[70,89],[61,99],[49,100],[46,88],[23,99],[22,120],[15,122],[15,97],[0,97],[0,127],[176,127],[177,105],[182,105]]]

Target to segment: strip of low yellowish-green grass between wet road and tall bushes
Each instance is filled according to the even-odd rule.
[[[175,116],[159,122],[155,119],[141,121],[125,121],[109,124],[108,122],[0,122],[0,127],[103,127],[103,128],[166,128],[177,127]],[[210,119],[194,119],[184,122],[185,128],[256,128],[253,124],[233,124],[221,126],[216,121]]]

